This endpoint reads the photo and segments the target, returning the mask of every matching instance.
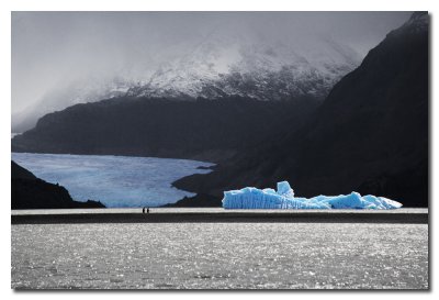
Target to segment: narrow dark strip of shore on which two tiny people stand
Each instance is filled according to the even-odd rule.
[[[165,212],[13,214],[11,224],[75,223],[407,223],[428,224],[428,213],[397,212]]]

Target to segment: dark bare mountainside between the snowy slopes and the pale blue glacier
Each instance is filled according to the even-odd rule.
[[[117,98],[42,118],[12,140],[13,152],[112,154],[221,162],[288,124],[297,127],[313,101],[218,101]]]

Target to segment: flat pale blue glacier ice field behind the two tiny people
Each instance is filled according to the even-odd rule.
[[[211,163],[155,157],[12,153],[12,160],[35,176],[67,188],[78,201],[99,200],[110,208],[157,207],[193,196],[171,187]]]

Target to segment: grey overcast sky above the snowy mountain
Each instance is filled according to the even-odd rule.
[[[361,55],[410,12],[13,12],[12,112],[76,77],[147,70],[212,33],[301,43],[330,36]]]

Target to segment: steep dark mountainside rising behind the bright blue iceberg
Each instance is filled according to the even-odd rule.
[[[175,182],[224,190],[289,180],[299,196],[357,190],[428,207],[428,14],[414,13],[345,76],[299,131]]]

